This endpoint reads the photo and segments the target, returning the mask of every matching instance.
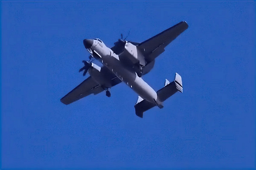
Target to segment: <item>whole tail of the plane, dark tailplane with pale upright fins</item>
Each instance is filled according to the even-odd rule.
[[[169,82],[167,79],[165,79],[164,87],[158,90],[157,96],[158,100],[160,102],[164,102],[166,99],[170,98],[170,96],[174,95],[176,92],[183,92],[182,88],[182,80],[181,76],[176,73],[175,78],[173,82]],[[135,113],[138,117],[143,117],[143,112],[147,111],[148,109],[151,109],[154,106],[158,106],[157,102],[151,103],[146,100],[143,100],[140,96],[138,97],[137,103],[134,106],[135,107]],[[161,105],[158,106],[159,108],[162,108],[163,106]]]

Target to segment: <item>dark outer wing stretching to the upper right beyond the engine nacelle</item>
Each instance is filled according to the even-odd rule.
[[[172,42],[178,35],[188,28],[186,21],[181,21],[176,25],[162,31],[150,39],[140,43],[138,48],[144,54],[147,61],[153,61],[158,55],[164,52],[164,48]]]

